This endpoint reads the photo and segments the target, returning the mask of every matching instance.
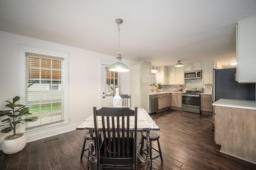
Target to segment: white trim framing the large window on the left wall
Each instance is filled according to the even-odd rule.
[[[40,47],[28,46],[23,44],[18,44],[18,50],[20,55],[20,79],[19,79],[19,96],[20,96],[20,103],[25,103],[26,91],[25,91],[25,75],[26,75],[26,56],[25,53],[36,53],[41,55],[48,55],[48,56],[56,56],[60,58],[64,58],[64,99],[63,99],[63,114],[64,114],[64,122],[56,123],[53,125],[48,125],[44,127],[33,128],[29,130],[25,130],[25,125],[21,125],[19,127],[20,132],[30,132],[34,130],[41,131],[44,128],[56,128],[56,126],[63,126],[64,124],[68,124],[68,56],[69,53],[61,52],[61,51],[54,51],[52,49],[44,49]]]

